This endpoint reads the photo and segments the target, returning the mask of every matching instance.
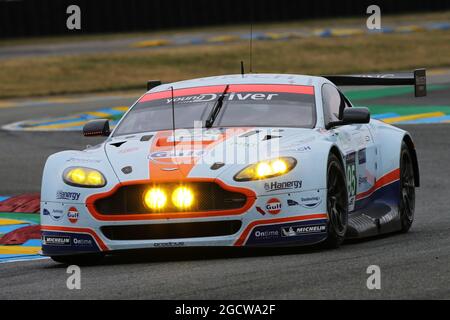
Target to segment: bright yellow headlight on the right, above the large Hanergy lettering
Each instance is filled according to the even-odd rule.
[[[239,171],[234,180],[250,181],[278,177],[294,169],[296,164],[297,160],[291,157],[260,161]]]

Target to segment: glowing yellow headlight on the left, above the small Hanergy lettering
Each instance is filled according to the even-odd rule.
[[[71,186],[84,188],[101,188],[106,185],[103,174],[95,169],[70,167],[64,170],[63,180]]]

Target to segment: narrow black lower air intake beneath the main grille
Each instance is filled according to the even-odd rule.
[[[241,225],[242,222],[239,220],[230,220],[104,226],[100,229],[110,240],[162,240],[227,236],[238,232]]]

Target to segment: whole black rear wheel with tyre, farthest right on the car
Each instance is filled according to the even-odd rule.
[[[400,151],[400,201],[399,212],[402,224],[401,232],[408,232],[414,221],[415,208],[414,169],[411,153],[405,142]]]

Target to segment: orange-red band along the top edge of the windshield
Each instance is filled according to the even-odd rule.
[[[222,93],[225,85],[193,87],[185,89],[176,89],[173,92],[174,97],[191,96],[196,94]],[[314,95],[313,86],[300,86],[288,84],[232,84],[228,92],[279,92],[279,93],[296,93]],[[172,97],[172,91],[166,90],[161,92],[147,93],[139,100],[139,102],[147,102],[159,99],[167,99]]]

